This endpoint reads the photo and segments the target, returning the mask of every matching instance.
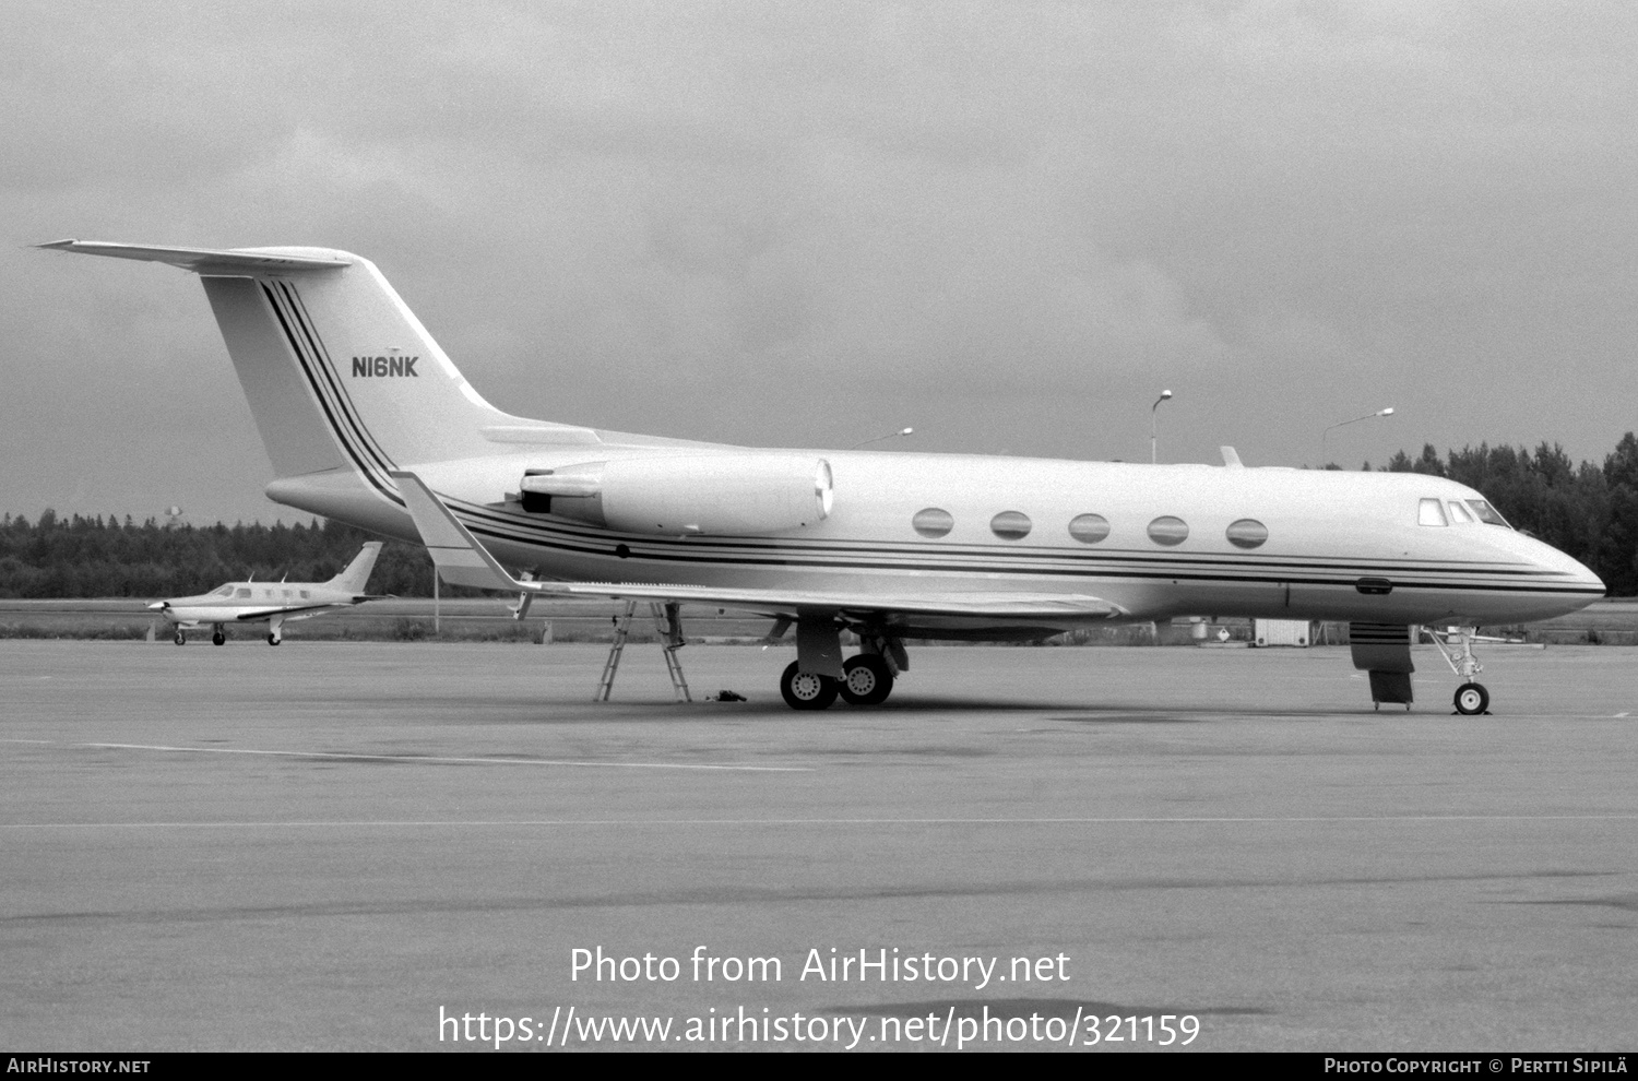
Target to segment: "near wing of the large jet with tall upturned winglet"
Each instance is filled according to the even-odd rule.
[[[770,616],[799,608],[837,613],[904,613],[912,616],[973,616],[989,619],[1104,617],[1127,614],[1119,604],[1076,593],[844,593],[829,590],[749,590],[734,586],[667,585],[636,581],[523,581],[501,567],[488,549],[444,506],[418,475],[391,473],[405,506],[414,518],[421,542],[439,575],[450,585],[478,590],[534,593],[537,596],[608,596],[634,601],[688,601],[722,604]]]

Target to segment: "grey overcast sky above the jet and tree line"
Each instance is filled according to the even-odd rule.
[[[0,511],[301,518],[198,280],[375,260],[524,416],[1384,462],[1638,427],[1638,5],[0,8]]]

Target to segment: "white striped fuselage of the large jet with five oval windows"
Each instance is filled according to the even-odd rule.
[[[527,513],[518,500],[526,470],[621,454],[655,449],[552,447],[413,468],[498,559],[537,578],[1063,591],[1096,595],[1132,621],[1222,614],[1495,624],[1564,614],[1604,595],[1597,577],[1568,555],[1477,521],[1469,506],[1482,500],[1477,491],[1420,473],[814,450],[834,475],[829,516],[758,537],[614,532]],[[275,482],[269,495],[419,539],[383,488],[357,473],[328,473]],[[1420,524],[1425,500],[1440,503],[1445,524]],[[894,626],[917,637],[971,637],[986,627],[1038,637],[1078,622],[996,627],[922,617]]]

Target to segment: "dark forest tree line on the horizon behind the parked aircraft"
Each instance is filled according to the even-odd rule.
[[[1638,596],[1638,437],[1633,432],[1622,437],[1602,465],[1577,465],[1559,444],[1546,442],[1535,452],[1479,444],[1445,457],[1428,444],[1420,457],[1400,450],[1382,468],[1448,477],[1477,488],[1515,527],[1597,572],[1612,596]],[[124,521],[57,518],[49,509],[33,522],[7,514],[0,521],[0,596],[162,598],[205,593],[223,581],[244,578],[323,581],[372,539],[377,537],[336,521],[187,526],[161,524],[152,518],[136,524],[129,516]],[[426,549],[388,540],[369,588],[396,596],[431,596],[432,562]],[[478,595],[449,586],[444,593]]]

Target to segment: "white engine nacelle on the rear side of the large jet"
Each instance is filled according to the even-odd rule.
[[[830,464],[806,454],[701,454],[529,470],[526,511],[621,532],[768,534],[830,514]]]

